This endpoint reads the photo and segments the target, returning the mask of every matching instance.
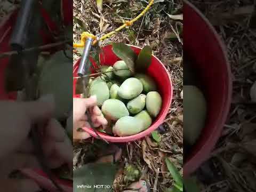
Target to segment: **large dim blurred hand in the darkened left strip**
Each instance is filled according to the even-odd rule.
[[[63,164],[68,164],[70,168],[73,166],[73,146],[63,127],[52,118],[53,97],[46,98],[31,102],[0,102],[0,185],[3,191],[40,190],[33,180],[9,178],[14,170],[40,167],[34,155],[37,149],[28,137],[35,123],[46,122],[39,131],[42,133],[42,153],[49,167],[55,169]]]

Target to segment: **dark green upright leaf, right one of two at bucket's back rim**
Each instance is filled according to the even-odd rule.
[[[138,59],[135,62],[135,70],[145,73],[151,63],[152,49],[150,46],[145,46],[139,53]]]

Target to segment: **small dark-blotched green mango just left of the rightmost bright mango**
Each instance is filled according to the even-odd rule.
[[[146,95],[140,94],[137,98],[132,99],[126,105],[130,114],[138,114],[146,105]]]

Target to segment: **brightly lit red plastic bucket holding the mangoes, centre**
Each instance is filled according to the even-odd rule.
[[[139,54],[139,52],[141,51],[140,47],[133,46],[133,45],[129,45],[129,46],[132,48],[132,50],[136,54]],[[113,53],[111,48],[112,48],[111,45],[106,45],[106,46],[102,47],[102,53],[100,54],[101,65],[112,66],[112,65],[114,65],[114,63],[116,61],[120,60]],[[90,60],[92,61],[92,59],[90,59]],[[77,69],[79,66],[79,62],[80,62],[80,60],[76,61],[75,65],[74,65],[74,70],[73,70],[74,77],[77,77]],[[92,61],[92,63],[93,63],[93,61]],[[94,64],[94,66],[95,66],[95,64]],[[168,71],[164,67],[163,63],[159,59],[157,59],[154,55],[152,56],[151,63],[150,63],[150,66],[149,66],[147,72],[151,77],[153,77],[155,79],[155,81],[158,85],[158,90],[159,90],[159,92],[162,96],[162,100],[163,100],[162,109],[161,109],[159,115],[157,116],[157,118],[155,119],[155,121],[153,122],[153,124],[147,130],[140,132],[138,134],[135,134],[135,135],[128,136],[128,137],[112,137],[105,133],[98,132],[102,138],[104,138],[110,142],[135,141],[135,140],[138,140],[138,139],[143,138],[146,135],[150,134],[155,129],[157,129],[157,127],[159,125],[161,125],[163,123],[163,121],[168,113],[168,110],[170,108],[171,101],[172,101],[172,90],[173,89],[172,89],[171,78],[170,78]],[[73,97],[79,98],[80,95],[75,94],[76,82],[77,82],[77,79],[74,79],[73,80]],[[97,137],[97,134],[95,134],[95,132],[90,127],[83,127],[83,130],[85,130],[86,132],[91,134],[93,137]]]

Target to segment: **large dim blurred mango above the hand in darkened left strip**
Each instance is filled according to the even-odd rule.
[[[39,75],[38,89],[40,97],[53,94],[55,100],[54,117],[67,118],[73,107],[73,65],[63,51],[56,52],[46,60]]]

